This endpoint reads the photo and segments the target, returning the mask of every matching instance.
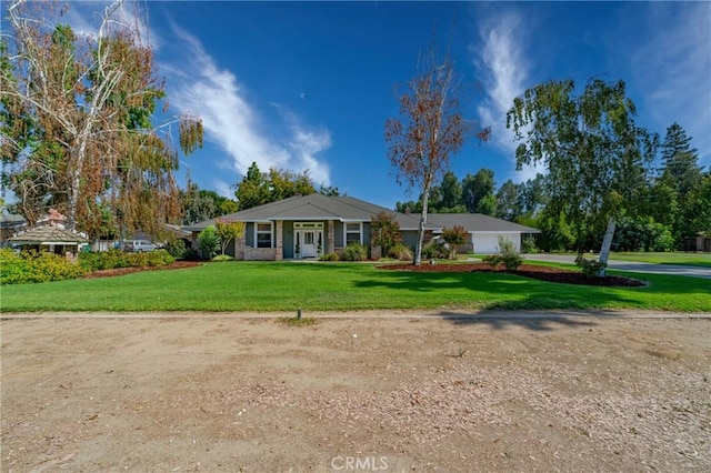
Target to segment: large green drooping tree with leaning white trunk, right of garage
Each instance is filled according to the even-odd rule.
[[[599,258],[603,268],[615,219],[634,212],[658,144],[654,133],[637,127],[635,115],[623,81],[597,79],[580,94],[572,80],[535,85],[514,99],[507,114],[507,127],[522,141],[515,151],[518,169],[547,167],[549,207],[575,224],[578,244],[583,232],[605,228]]]

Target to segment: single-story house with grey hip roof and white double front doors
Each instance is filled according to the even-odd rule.
[[[419,214],[397,213],[351,197],[292,197],[219,219],[246,223],[244,234],[230,245],[228,254],[237,260],[272,261],[319,258],[324,253],[340,252],[350,243],[370,246],[371,217],[380,212],[395,215],[404,244],[414,248]],[[198,245],[198,234],[214,225],[217,220],[183,227],[192,233],[193,248]],[[473,249],[478,253],[494,252],[499,235],[512,240],[520,249],[522,234],[539,233],[529,227],[480,214],[430,214],[425,230],[431,238],[441,233],[443,228],[457,224],[462,225],[472,239],[471,245],[462,251]]]

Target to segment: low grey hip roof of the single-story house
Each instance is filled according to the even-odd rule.
[[[398,213],[384,207],[375,205],[352,197],[328,197],[310,194],[292,197],[277,202],[266,203],[252,209],[242,210],[220,219],[240,222],[267,222],[276,220],[339,220],[342,222],[369,222],[372,215],[388,212],[395,215],[400,230],[417,230],[420,215],[415,213]],[[183,227],[187,231],[202,231],[214,225],[218,219],[204,220]],[[538,233],[530,227],[519,225],[480,213],[430,213],[424,228],[441,231],[443,228],[462,225],[467,231],[477,232],[521,232]]]

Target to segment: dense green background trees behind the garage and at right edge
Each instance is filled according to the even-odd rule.
[[[612,248],[619,251],[684,249],[684,241],[711,235],[711,169],[699,164],[692,138],[679,123],[667,129],[658,159],[638,163],[643,177],[634,182],[633,202],[619,219]],[[483,213],[534,227],[542,231],[538,245],[544,251],[592,251],[601,243],[599,229],[589,223],[578,229],[573,215],[551,205],[557,183],[550,174],[498,189],[494,172],[481,169],[463,179],[449,171],[429,194],[431,213]],[[398,212],[420,212],[421,199],[397,202]]]

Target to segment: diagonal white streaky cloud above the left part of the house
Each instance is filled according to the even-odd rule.
[[[232,170],[244,174],[257,162],[263,171],[272,167],[297,172],[308,169],[317,183],[329,182],[328,167],[317,158],[331,144],[328,130],[311,129],[280,109],[284,122],[270,123],[268,131],[237,77],[221,69],[197,38],[178,26],[173,32],[181,59],[161,64],[169,76],[168,94],[178,109],[201,117],[206,139],[229,154]],[[283,127],[287,133],[278,138],[272,130]]]

